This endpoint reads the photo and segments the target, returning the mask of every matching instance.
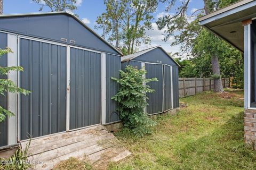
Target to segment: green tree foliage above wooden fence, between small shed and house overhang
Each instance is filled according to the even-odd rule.
[[[167,28],[164,40],[174,36],[175,40],[171,45],[180,45],[179,55],[186,56],[189,58],[187,60],[190,60],[189,62],[182,62],[184,66],[179,72],[180,77],[211,77],[212,74],[217,73],[213,73],[211,68],[211,60],[215,56],[218,57],[222,77],[233,75],[239,79],[238,82],[242,81],[240,75],[243,72],[243,65],[237,64],[237,62],[242,62],[242,55],[225,41],[198,24],[199,16],[236,1],[238,0],[205,0],[203,1],[203,8],[198,9],[191,15],[188,15],[191,0],[184,0],[181,3],[176,0],[161,1],[166,3],[166,11],[170,14],[166,14],[157,20],[158,29]],[[175,4],[180,6],[175,8],[173,14]],[[214,64],[217,65],[218,62]],[[215,68],[216,65],[214,65]]]

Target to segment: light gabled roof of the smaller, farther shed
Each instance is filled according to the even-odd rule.
[[[148,53],[150,52],[151,50],[154,50],[156,48],[159,48],[161,49],[167,56],[170,57],[170,59],[175,63],[177,64],[178,66],[180,66],[161,46],[155,46],[155,47],[150,47],[150,48],[147,48],[147,49],[143,49],[139,52],[136,52],[136,53],[133,53],[133,54],[130,54],[130,55],[126,55],[124,57],[121,57],[121,61],[122,62],[126,62],[126,61],[130,61],[130,60],[133,60],[134,58],[136,57],[139,57],[141,56],[142,54],[145,54],[145,53]]]

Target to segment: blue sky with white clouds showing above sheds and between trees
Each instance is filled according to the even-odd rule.
[[[183,0],[177,0],[177,6],[173,8],[170,13],[175,13],[175,8],[178,7]],[[103,4],[103,0],[77,0],[77,10],[74,13],[79,15],[79,19],[83,20],[90,28],[93,29],[94,22],[102,12],[105,11],[105,5]],[[165,14],[165,6],[166,4],[159,3],[157,11],[153,14],[154,20],[153,28],[154,30],[147,30],[146,34],[151,38],[150,45],[142,45],[140,49],[148,48],[151,46],[161,45],[167,52],[178,52],[180,47],[174,46],[171,47],[170,44],[173,41],[173,38],[170,38],[167,42],[162,41],[163,36],[162,33],[164,30],[157,30],[157,26],[155,21],[159,16]],[[38,12],[39,5],[32,2],[31,0],[4,0],[4,14],[13,14],[13,13],[31,13]],[[188,15],[195,9],[199,9],[203,7],[203,0],[192,0],[189,4]],[[44,7],[44,12],[50,11],[49,8]],[[97,33],[101,34],[100,30],[95,30]]]

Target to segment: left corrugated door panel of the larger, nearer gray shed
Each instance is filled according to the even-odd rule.
[[[66,130],[66,47],[20,39],[20,139]]]

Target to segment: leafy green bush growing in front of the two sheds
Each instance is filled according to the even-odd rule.
[[[131,129],[138,137],[151,133],[151,126],[156,124],[147,116],[144,108],[147,106],[146,94],[154,92],[147,83],[157,79],[146,79],[146,73],[144,67],[138,70],[132,66],[126,66],[125,72],[120,71],[119,79],[111,78],[119,84],[117,94],[111,98],[118,102],[119,117],[124,127]]]

